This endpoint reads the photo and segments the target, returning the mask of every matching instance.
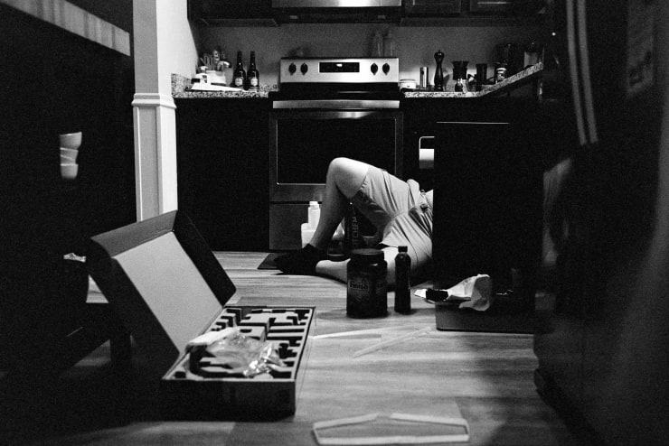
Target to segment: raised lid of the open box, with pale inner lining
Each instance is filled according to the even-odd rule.
[[[183,211],[90,238],[90,275],[162,376],[236,289]]]

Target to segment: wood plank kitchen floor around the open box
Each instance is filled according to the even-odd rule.
[[[390,308],[385,318],[351,319],[345,314],[343,283],[259,270],[265,253],[216,256],[237,286],[231,303],[315,305],[313,336],[365,330],[309,340],[294,416],[274,423],[165,422],[156,413],[155,395],[137,390],[141,378],[119,382],[111,373],[104,345],[52,383],[38,403],[26,403],[34,410],[17,415],[12,427],[4,423],[3,428],[16,432],[5,432],[0,441],[315,445],[311,429],[317,421],[397,412],[462,416],[469,423],[472,445],[579,444],[534,389],[532,335],[429,330],[353,358],[353,352],[382,340],[434,329],[433,307],[413,297],[410,315]],[[391,293],[389,303],[391,307]]]

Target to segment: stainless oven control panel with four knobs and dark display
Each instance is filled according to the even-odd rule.
[[[305,58],[281,59],[281,83],[376,83],[399,82],[398,58]]]

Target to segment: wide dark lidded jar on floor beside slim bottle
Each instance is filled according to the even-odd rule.
[[[378,318],[388,311],[388,264],[379,249],[351,251],[346,265],[346,314],[353,318]]]

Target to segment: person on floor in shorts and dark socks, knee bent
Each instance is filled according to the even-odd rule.
[[[327,246],[353,203],[375,228],[375,247],[388,264],[387,283],[395,283],[398,246],[408,246],[411,277],[425,274],[432,262],[432,190],[420,190],[370,164],[335,158],[325,177],[325,197],[314,237],[301,250],[278,256],[275,264],[287,274],[325,275],[346,282],[347,262],[327,260]]]

